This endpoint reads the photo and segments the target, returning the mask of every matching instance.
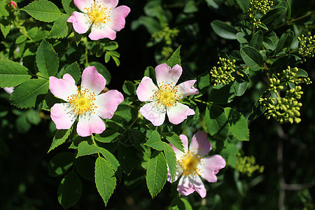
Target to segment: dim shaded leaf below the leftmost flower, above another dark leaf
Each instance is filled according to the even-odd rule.
[[[69,152],[57,153],[48,162],[48,174],[54,177],[66,174],[73,165],[74,156],[75,154]]]

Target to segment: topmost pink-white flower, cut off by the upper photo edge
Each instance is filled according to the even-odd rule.
[[[127,6],[117,6],[118,0],[73,0],[76,7],[83,13],[74,11],[67,22],[73,23],[78,34],[84,34],[90,27],[89,37],[116,38],[116,31],[125,27],[125,18],[130,13]]]

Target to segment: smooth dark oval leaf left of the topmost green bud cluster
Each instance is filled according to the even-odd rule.
[[[214,29],[214,32],[222,38],[236,39],[235,34],[237,33],[237,29],[226,22],[214,20],[211,22],[211,27]]]

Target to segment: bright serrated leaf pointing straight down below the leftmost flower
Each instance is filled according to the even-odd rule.
[[[111,165],[102,157],[95,162],[95,184],[106,206],[116,187],[116,178]]]

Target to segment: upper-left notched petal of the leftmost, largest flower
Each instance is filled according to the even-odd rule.
[[[66,102],[69,101],[69,97],[71,97],[72,94],[78,94],[76,81],[69,73],[64,74],[61,79],[50,76],[49,90],[55,97],[63,99]]]

